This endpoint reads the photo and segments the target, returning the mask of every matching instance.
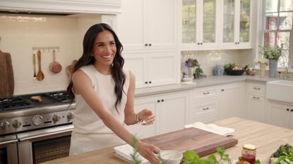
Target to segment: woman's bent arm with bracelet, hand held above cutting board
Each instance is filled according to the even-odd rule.
[[[145,120],[142,125],[150,125],[153,124],[155,121],[155,115],[153,111],[148,109],[143,109],[139,113],[134,112],[134,91],[136,89],[136,77],[133,75],[131,71],[129,71],[130,75],[130,82],[129,82],[129,89],[127,92],[127,102],[124,110],[125,115],[125,124],[126,125],[133,125],[138,122],[138,120]],[[136,120],[136,115],[138,115],[138,120]]]

